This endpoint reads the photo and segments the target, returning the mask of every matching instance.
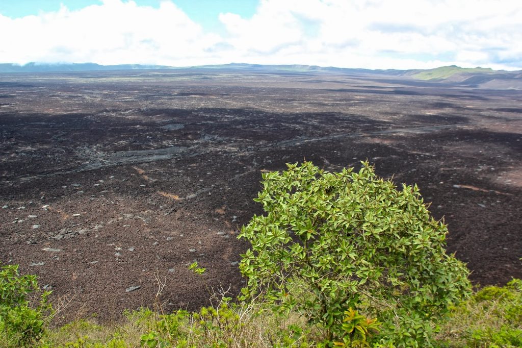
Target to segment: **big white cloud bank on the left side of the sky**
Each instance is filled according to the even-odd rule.
[[[77,11],[0,17],[4,62],[96,62],[191,65],[220,41],[172,2],[158,9],[104,0]],[[8,34],[5,34],[8,33]]]

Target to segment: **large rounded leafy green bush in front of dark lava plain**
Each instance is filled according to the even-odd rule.
[[[287,166],[263,174],[254,201],[266,214],[239,235],[252,244],[240,263],[245,297],[302,312],[329,342],[344,337],[344,313],[353,308],[383,323],[374,341],[429,344],[432,320],[470,284],[466,266],[445,253],[447,228],[417,186],[397,190],[367,162],[359,172]]]

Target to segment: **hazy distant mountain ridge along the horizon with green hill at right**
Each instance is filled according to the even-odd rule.
[[[48,64],[28,63],[17,65],[11,63],[0,64],[0,73],[42,73],[42,72],[88,72],[88,71],[126,71],[152,69],[214,69],[258,73],[306,73],[323,72],[337,74],[364,74],[396,76],[414,80],[425,80],[438,83],[448,83],[474,88],[491,89],[522,89],[522,71],[495,71],[491,68],[462,68],[455,65],[441,66],[434,69],[362,69],[341,68],[317,65],[264,65],[247,63],[230,63],[220,65],[198,65],[188,67],[173,67],[166,65],[100,65],[96,63]]]

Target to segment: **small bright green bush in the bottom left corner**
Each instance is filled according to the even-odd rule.
[[[35,275],[20,275],[18,265],[0,269],[0,332],[7,346],[29,346],[44,334],[51,292],[40,292]]]

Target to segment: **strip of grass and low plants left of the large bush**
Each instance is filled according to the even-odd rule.
[[[79,319],[50,329],[37,345],[48,347],[313,347],[318,333],[301,316],[273,315],[257,306],[205,307],[160,315],[127,312],[118,323]],[[0,343],[0,347],[2,344]]]

